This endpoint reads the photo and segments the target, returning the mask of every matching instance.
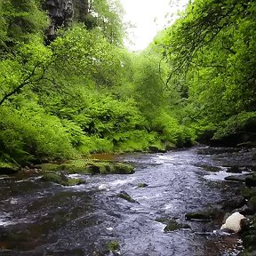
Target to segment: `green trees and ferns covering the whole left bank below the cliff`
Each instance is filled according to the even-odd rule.
[[[194,140],[183,119],[188,84],[176,77],[166,86],[169,66],[158,46],[140,56],[122,48],[117,1],[93,1],[85,25],[60,28],[48,46],[41,2],[0,3],[2,156],[28,164]]]

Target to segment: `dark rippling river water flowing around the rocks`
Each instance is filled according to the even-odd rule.
[[[221,201],[234,197],[239,185],[223,178],[228,166],[250,164],[252,151],[191,148],[117,158],[132,162],[136,172],[79,176],[86,184],[71,188],[31,175],[0,180],[0,255],[113,255],[106,252],[113,240],[127,256],[238,254],[239,236],[213,232],[222,216],[206,223],[186,221],[184,215],[220,208]],[[208,172],[209,167],[219,172]],[[138,188],[141,182],[148,187]],[[139,204],[116,197],[121,190]],[[160,217],[191,229],[164,233]]]

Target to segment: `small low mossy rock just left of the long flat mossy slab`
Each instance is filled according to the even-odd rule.
[[[75,186],[75,185],[84,183],[84,180],[76,179],[76,178],[70,179],[66,175],[58,172],[44,172],[44,175],[41,178],[41,180],[50,181],[63,186]]]

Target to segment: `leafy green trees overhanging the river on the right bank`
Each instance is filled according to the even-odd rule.
[[[254,1],[193,1],[156,38],[169,62],[166,84],[183,84],[185,124],[199,136],[246,132],[254,116],[255,13]]]

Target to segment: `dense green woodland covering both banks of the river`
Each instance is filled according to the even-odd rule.
[[[255,1],[192,1],[143,52],[125,49],[117,1],[84,3],[49,36],[43,0],[1,0],[2,163],[253,133]]]

